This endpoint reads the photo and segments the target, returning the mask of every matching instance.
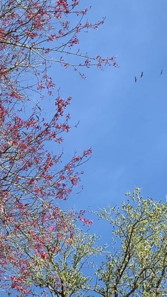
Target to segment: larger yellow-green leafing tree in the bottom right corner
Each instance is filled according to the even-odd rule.
[[[167,295],[167,203],[143,199],[140,190],[126,194],[121,210],[108,206],[98,213],[117,238],[96,272],[101,296]]]

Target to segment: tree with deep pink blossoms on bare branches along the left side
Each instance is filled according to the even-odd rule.
[[[55,205],[77,187],[77,168],[92,152],[75,153],[63,165],[63,153],[47,151],[48,141],[61,144],[62,133],[70,130],[65,109],[71,97],[58,94],[50,119],[44,119],[41,108],[44,97],[55,96],[48,73],[53,62],[73,68],[82,78],[84,67],[117,67],[113,56],[90,57],[78,47],[74,50],[81,31],[104,22],[89,23],[88,8],[81,5],[79,0],[0,1],[0,279],[3,293],[13,296],[37,296],[33,285],[47,287],[50,294],[59,290],[55,259],[63,247],[74,244],[77,219],[92,223],[83,211],[62,211]],[[36,269],[41,272],[35,277]],[[67,296],[62,288],[59,293]]]

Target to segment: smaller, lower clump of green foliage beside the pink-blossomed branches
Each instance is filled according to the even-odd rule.
[[[90,265],[88,260],[104,250],[96,245],[98,239],[76,228],[72,238],[57,241],[58,250],[54,256],[50,254],[45,260],[37,257],[32,260],[31,283],[47,287],[51,296],[82,296],[80,290],[89,287],[92,280],[84,273]],[[91,267],[93,265],[91,263]]]

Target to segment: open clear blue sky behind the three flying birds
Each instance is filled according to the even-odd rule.
[[[80,121],[77,129],[66,135],[66,158],[74,150],[93,148],[93,157],[82,167],[84,191],[62,204],[96,210],[108,203],[120,204],[125,192],[135,186],[142,187],[146,196],[165,198],[167,2],[85,1],[90,4],[89,19],[93,22],[106,16],[106,20],[98,31],[82,34],[79,48],[94,56],[117,55],[120,67],[90,69],[87,80],[69,69],[51,68],[61,95],[73,98],[71,125]],[[96,223],[93,230],[102,233]]]

